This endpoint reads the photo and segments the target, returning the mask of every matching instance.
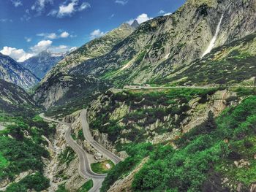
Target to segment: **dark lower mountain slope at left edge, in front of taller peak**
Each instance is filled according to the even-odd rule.
[[[31,113],[38,108],[36,102],[26,91],[11,82],[0,80],[1,112],[15,115]]]

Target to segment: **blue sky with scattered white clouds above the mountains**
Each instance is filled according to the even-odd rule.
[[[0,0],[0,52],[22,62],[61,53],[121,25],[169,15],[185,0]]]

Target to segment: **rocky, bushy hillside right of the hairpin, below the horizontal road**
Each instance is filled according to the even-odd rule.
[[[101,191],[249,191],[256,176],[252,95],[243,88],[106,92],[89,107],[91,132],[128,156]]]

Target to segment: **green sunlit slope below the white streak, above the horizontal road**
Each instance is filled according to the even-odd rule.
[[[217,47],[206,57],[155,80],[171,85],[255,85],[256,34]]]

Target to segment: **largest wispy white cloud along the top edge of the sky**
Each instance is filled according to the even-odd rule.
[[[48,13],[48,16],[53,16],[57,18],[64,18],[66,16],[71,16],[75,12],[83,11],[84,9],[87,9],[91,7],[91,5],[88,2],[83,2],[80,4],[79,0],[69,0],[69,3],[67,4],[67,1],[64,2],[64,4],[59,5],[59,9],[53,9]]]

